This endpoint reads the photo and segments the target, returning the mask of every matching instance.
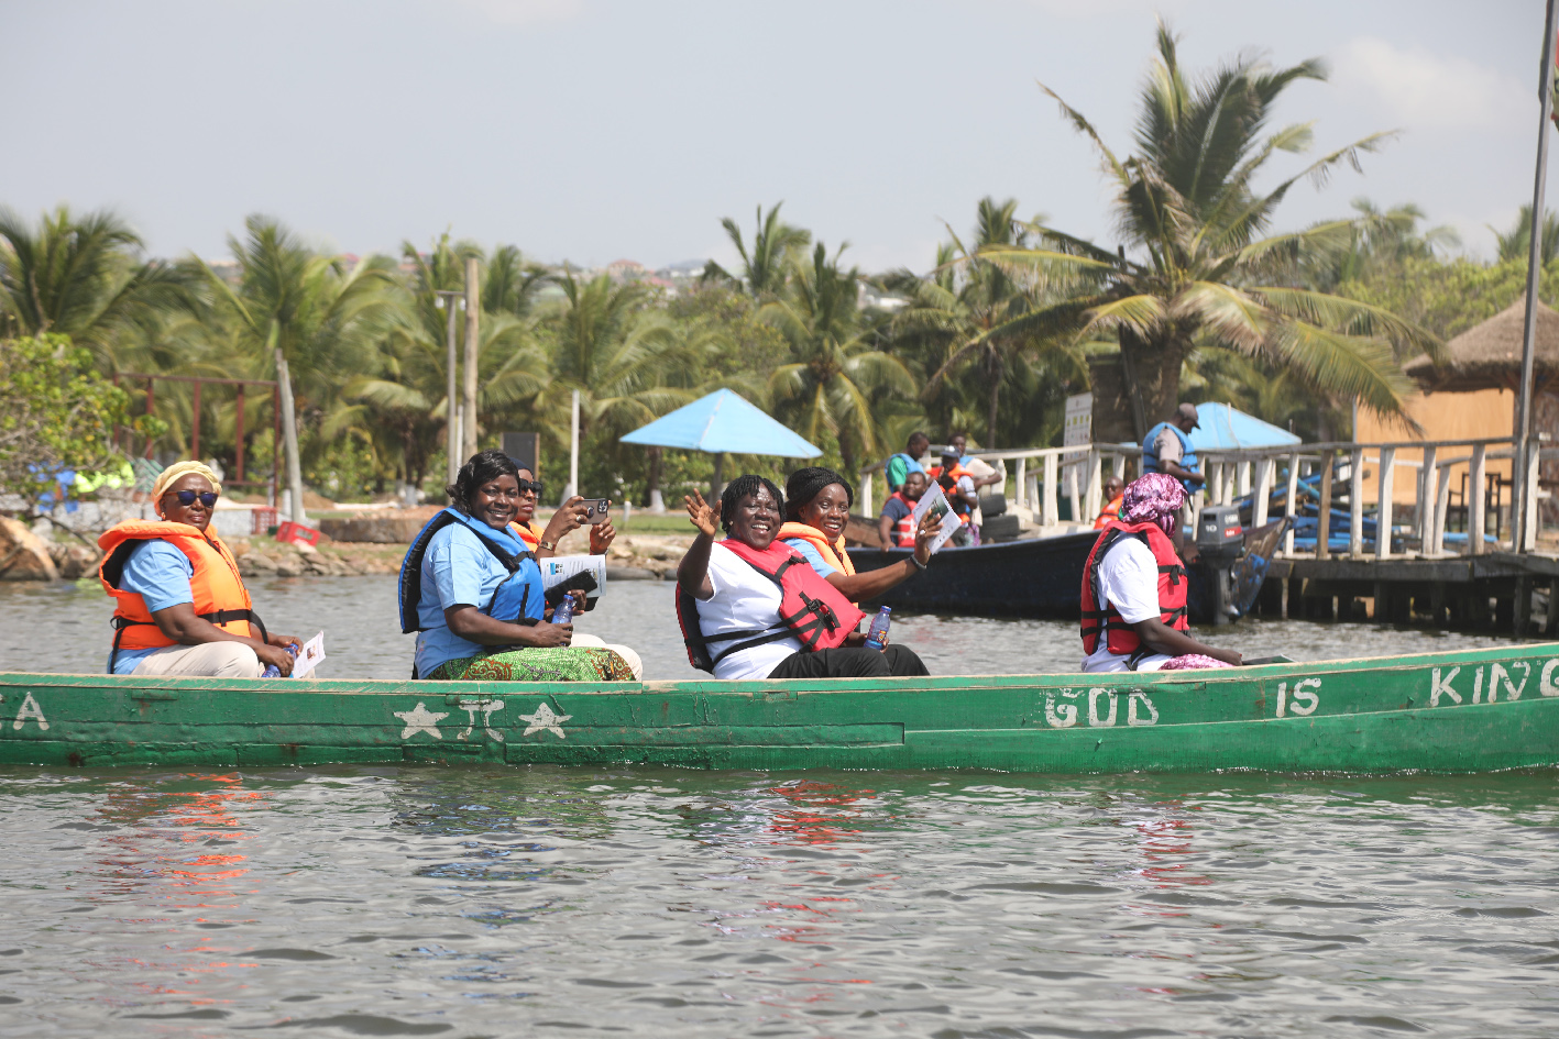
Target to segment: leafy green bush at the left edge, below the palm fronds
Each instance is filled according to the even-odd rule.
[[[0,491],[31,509],[61,469],[120,469],[112,435],[125,403],[69,336],[0,340]]]

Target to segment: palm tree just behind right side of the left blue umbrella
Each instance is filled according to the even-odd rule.
[[[875,402],[910,397],[915,380],[904,361],[871,343],[856,305],[861,271],[840,269],[818,241],[811,262],[792,263],[790,291],[764,304],[764,316],[790,343],[795,360],[769,377],[769,391],[792,428],[815,441],[823,431],[839,441],[847,469],[887,444]]]

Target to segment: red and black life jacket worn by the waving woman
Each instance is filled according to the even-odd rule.
[[[845,643],[865,614],[839,593],[833,584],[817,576],[817,570],[789,545],[775,539],[759,551],[733,537],[720,542],[741,556],[748,565],[780,586],[780,614],[775,623],[762,631],[722,631],[705,636],[698,623],[698,600],[677,586],[677,623],[683,629],[688,646],[688,662],[700,671],[714,673],[722,659],[781,639],[798,639],[803,653],[833,650]],[[709,653],[711,642],[728,643],[717,654]]]

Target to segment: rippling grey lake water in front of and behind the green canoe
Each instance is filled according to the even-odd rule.
[[[391,579],[254,593],[326,629],[329,674],[407,673]],[[0,586],[0,667],[97,671],[108,614]],[[580,628],[691,673],[669,584],[616,584]],[[895,636],[932,671],[1077,660],[1063,623]],[[0,1037],[1554,1036],[1556,886],[1551,773],[0,768]]]

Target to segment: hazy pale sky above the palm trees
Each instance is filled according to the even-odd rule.
[[[341,251],[446,227],[543,260],[647,265],[784,213],[865,269],[931,265],[982,195],[1112,241],[1090,148],[1130,150],[1154,14],[1205,67],[1322,56],[1280,117],[1316,150],[1400,140],[1296,190],[1367,195],[1492,252],[1531,196],[1540,0],[0,0],[0,204],[123,213],[156,254],[226,252],[251,212]],[[1285,156],[1277,170],[1302,157]],[[1553,188],[1550,188],[1553,190]]]

